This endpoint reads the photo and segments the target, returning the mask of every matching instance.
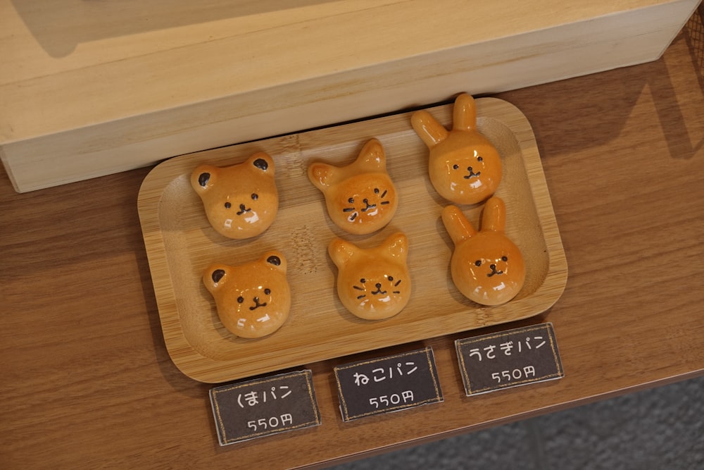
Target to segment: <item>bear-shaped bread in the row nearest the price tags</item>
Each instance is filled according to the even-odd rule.
[[[284,255],[271,251],[251,263],[213,264],[203,272],[203,284],[230,333],[261,338],[284,324],[291,309],[286,267]]]

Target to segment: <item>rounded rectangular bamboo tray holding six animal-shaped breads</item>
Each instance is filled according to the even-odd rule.
[[[444,125],[451,124],[452,105],[428,111]],[[506,233],[527,265],[522,291],[496,307],[474,304],[452,283],[453,243],[440,220],[448,202],[429,182],[427,148],[410,127],[410,113],[201,151],[156,166],[139,192],[139,217],[165,344],[176,366],[197,381],[219,383],[516,321],[551,307],[564,290],[567,261],[532,129],[515,106],[494,98],[477,99],[477,125],[503,159],[496,194],[506,204]],[[384,145],[398,210],[379,232],[348,235],[329,221],[323,196],[308,181],[306,168],[313,161],[350,163],[372,137]],[[189,175],[200,163],[227,166],[256,151],[275,159],[279,213],[263,235],[229,240],[210,228]],[[462,209],[479,226],[481,204]],[[337,299],[337,268],[327,256],[327,245],[339,236],[376,246],[399,230],[409,240],[410,302],[391,319],[358,319]],[[220,323],[201,283],[202,272],[216,261],[258,259],[268,249],[287,256],[291,314],[268,337],[237,338]]]

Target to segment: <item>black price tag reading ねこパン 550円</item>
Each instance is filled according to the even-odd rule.
[[[431,347],[334,368],[343,421],[443,401]]]

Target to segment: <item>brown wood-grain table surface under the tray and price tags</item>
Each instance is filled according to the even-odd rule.
[[[704,373],[704,39],[653,63],[498,95],[531,121],[570,274],[546,313],[433,347],[444,402],[219,447],[212,385],[166,352],[137,193],[150,168],[26,194],[0,175],[0,466],[341,462]],[[460,91],[460,90],[458,90]],[[549,321],[565,378],[465,397],[453,341]],[[398,348],[394,348],[394,351]],[[379,350],[383,355],[390,350]]]

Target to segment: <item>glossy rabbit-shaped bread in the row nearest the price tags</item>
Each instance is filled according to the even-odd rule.
[[[477,232],[457,206],[442,211],[442,221],[455,244],[452,280],[465,297],[478,304],[504,304],[523,287],[523,255],[504,233],[505,213],[503,200],[491,197],[482,213],[482,230]]]

